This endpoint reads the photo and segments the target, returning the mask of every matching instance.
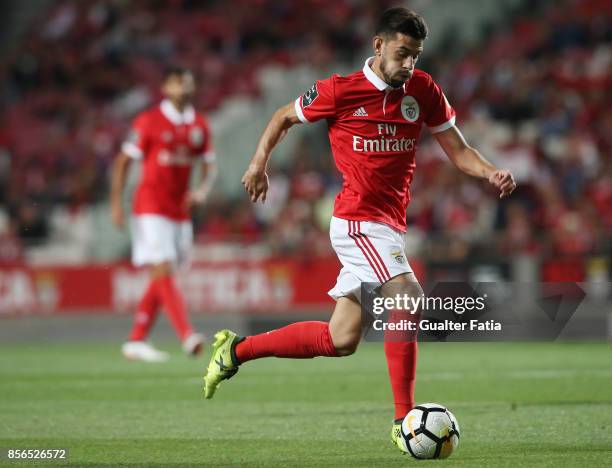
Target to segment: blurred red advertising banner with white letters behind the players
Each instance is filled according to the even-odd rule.
[[[290,313],[331,308],[339,271],[333,257],[282,258],[196,263],[177,278],[191,313]],[[0,267],[0,316],[132,312],[147,283],[128,264]]]

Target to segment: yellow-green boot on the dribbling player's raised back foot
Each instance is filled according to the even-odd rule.
[[[235,346],[242,341],[231,330],[221,330],[215,333],[213,353],[204,375],[204,396],[212,398],[222,380],[232,378],[238,372],[238,359]]]

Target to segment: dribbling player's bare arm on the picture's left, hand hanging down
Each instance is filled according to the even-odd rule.
[[[242,185],[244,185],[252,202],[255,203],[261,200],[263,203],[266,201],[266,194],[268,192],[268,174],[266,173],[266,168],[272,150],[281,142],[289,129],[298,123],[301,123],[301,121],[296,113],[294,102],[278,109],[272,116],[272,119],[270,119],[270,122],[268,122],[266,129],[259,139],[257,150],[251,159],[249,168],[244,173],[244,176],[242,176]]]

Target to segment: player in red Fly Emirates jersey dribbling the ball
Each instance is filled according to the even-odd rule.
[[[510,172],[494,167],[469,146],[455,125],[455,111],[427,73],[415,69],[427,27],[405,8],[381,17],[373,39],[375,55],[363,70],[317,81],[295,102],[276,111],[266,127],[242,183],[251,201],[266,199],[266,166],[272,150],[295,124],[326,119],[332,153],[343,176],[334,206],[331,242],[342,269],[329,292],[336,307],[329,323],[298,322],[239,338],[229,330],[215,335],[204,378],[211,398],[240,365],[262,357],[347,356],[361,340],[360,287],[390,285],[418,296],[421,288],[404,256],[406,208],[421,128],[426,125],[450,160],[463,172],[488,180],[509,195]],[[391,438],[414,405],[416,340],[387,340],[385,355],[395,403]]]

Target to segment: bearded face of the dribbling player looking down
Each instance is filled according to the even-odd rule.
[[[399,88],[410,79],[423,51],[423,41],[397,33],[394,38],[378,38],[374,47],[380,52],[380,71],[387,84]],[[377,48],[378,46],[378,48]]]

